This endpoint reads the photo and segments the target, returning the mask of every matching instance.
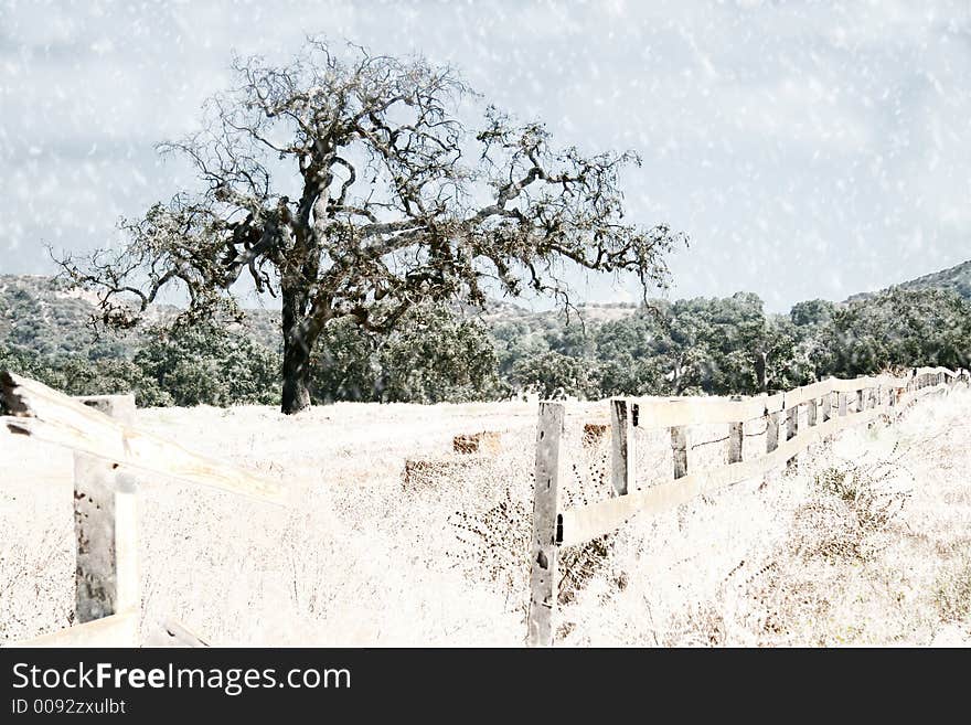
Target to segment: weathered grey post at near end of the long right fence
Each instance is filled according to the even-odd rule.
[[[533,542],[530,564],[530,647],[553,644],[553,610],[556,607],[556,547],[559,499],[559,436],[562,403],[540,402],[536,429],[536,476],[533,492]]]

